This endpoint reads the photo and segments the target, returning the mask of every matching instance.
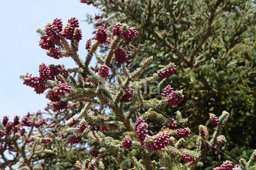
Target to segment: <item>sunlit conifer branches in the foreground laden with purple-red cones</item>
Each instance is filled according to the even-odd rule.
[[[154,3],[151,4],[150,2],[148,18],[151,16],[153,5]],[[127,8],[130,7],[127,6]],[[176,20],[174,14],[170,15]],[[41,112],[33,116],[28,114],[22,118],[22,121],[19,121],[19,118],[16,117],[14,122],[10,122],[7,117],[4,117],[3,123],[0,123],[2,129],[0,130],[0,138],[6,137],[3,140],[0,139],[0,142],[7,142],[8,140],[12,142],[16,150],[11,150],[17,153],[17,156],[14,156],[14,161],[17,162],[22,157],[25,158],[27,156],[24,154],[25,150],[29,149],[32,149],[34,153],[30,154],[29,159],[24,159],[27,166],[34,164],[36,148],[39,148],[37,154],[40,153],[42,156],[54,155],[60,158],[58,155],[62,153],[66,154],[63,157],[69,157],[68,154],[71,152],[76,155],[83,154],[80,150],[86,152],[84,145],[88,145],[94,147],[94,149],[86,152],[87,156],[83,155],[90,158],[84,160],[84,163],[80,163],[82,162],[80,158],[76,158],[79,161],[67,158],[67,160],[70,159],[70,161],[76,162],[76,169],[104,169],[106,160],[103,156],[106,156],[107,159],[108,156],[116,158],[116,165],[112,164],[111,166],[118,166],[122,169],[151,170],[160,167],[172,170],[193,169],[196,166],[201,166],[202,163],[199,160],[203,156],[211,151],[219,150],[220,146],[226,143],[226,138],[221,135],[221,130],[228,120],[228,112],[223,111],[220,117],[211,114],[210,123],[216,126],[212,137],[208,140],[210,136],[208,133],[211,131],[208,131],[208,127],[200,125],[196,141],[197,149],[189,150],[185,148],[185,142],[189,139],[187,136],[192,131],[187,126],[182,125],[188,119],[182,118],[180,111],[176,112],[176,120],[174,120],[174,118],[168,117],[159,110],[169,107],[168,105],[180,104],[184,98],[183,90],[174,91],[174,87],[168,85],[161,95],[156,94],[156,96],[158,95],[157,98],[144,99],[140,86],[146,85],[154,79],[166,79],[166,77],[174,74],[176,65],[169,63],[156,73],[151,72],[151,77],[143,76],[143,79],[136,80],[139,75],[142,76],[142,71],[150,66],[153,56],[144,59],[140,64],[141,67],[132,73],[129,71],[130,65],[126,67],[125,63],[129,62],[128,56],[124,49],[118,47],[118,43],[121,40],[125,42],[132,40],[138,34],[135,28],[118,23],[114,25],[112,30],[114,39],[110,40],[110,38],[107,38],[106,29],[103,26],[98,26],[95,36],[96,41],[92,43],[88,39],[86,42],[88,54],[85,61],[83,61],[77,53],[78,42],[82,38],[81,30],[78,28],[78,20],[71,18],[63,29],[60,24],[60,20],[56,18],[53,23],[46,24],[45,31],[37,30],[42,35],[40,46],[48,51],[48,55],[52,55],[51,57],[56,59],[62,57],[60,57],[60,54],[72,57],[77,66],[66,69],[64,65],[47,66],[41,63],[39,65],[39,77],[32,77],[28,73],[20,75],[24,84],[34,88],[37,93],[41,94],[48,90],[46,97],[51,103],[45,108],[47,111],[45,114],[52,117],[44,119]],[[53,30],[50,29],[52,27],[59,29],[58,33],[61,36],[54,34]],[[156,32],[156,34],[163,39],[160,33]],[[47,39],[45,40],[45,38]],[[169,44],[167,38],[163,40],[164,43]],[[97,49],[103,43],[110,43],[110,51],[101,56],[97,54]],[[101,64],[98,69],[88,67],[93,54]],[[121,67],[122,69],[120,69]],[[122,72],[126,77],[124,80],[122,79],[124,77]],[[74,75],[71,76],[71,73],[74,73]],[[77,80],[75,79],[76,75]],[[116,79],[114,76],[116,76]],[[114,82],[116,80],[117,82]],[[114,89],[114,83],[117,83],[121,89]],[[157,128],[152,126],[154,123],[158,126]],[[62,125],[66,125],[66,127]],[[23,129],[19,128],[25,126],[30,128],[28,132],[23,128],[26,134],[23,133]],[[182,126],[182,128],[177,128],[177,126]],[[67,131],[68,133],[61,133],[56,137],[56,129],[61,127],[62,132]],[[117,137],[113,133],[119,136]],[[24,135],[24,137],[18,138],[17,134]],[[53,137],[57,140],[50,143],[52,146],[46,146],[52,141]],[[22,144],[19,144],[16,138],[22,140]],[[40,142],[36,140],[40,140]],[[10,144],[5,144],[5,150],[7,145]],[[96,150],[96,148],[100,149]],[[0,145],[0,149],[2,149],[2,145]],[[10,146],[8,146],[8,149],[10,149]],[[0,151],[2,153],[2,150]],[[254,166],[255,152],[248,162],[240,159],[241,168]],[[88,153],[91,156],[88,156]],[[151,158],[155,157],[160,162],[151,161]],[[138,160],[137,158],[141,159]],[[5,157],[3,159],[9,162]],[[91,162],[92,159],[93,162]],[[224,164],[228,163],[230,162]],[[1,162],[0,167],[3,167]]]

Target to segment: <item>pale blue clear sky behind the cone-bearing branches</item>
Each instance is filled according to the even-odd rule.
[[[36,28],[44,28],[54,18],[61,18],[63,25],[71,17],[78,18],[83,36],[78,53],[84,59],[86,39],[92,38],[94,31],[92,24],[81,21],[86,19],[87,13],[96,14],[96,8],[80,3],[80,0],[1,1],[0,119],[4,115],[9,115],[12,120],[14,115],[43,111],[49,102],[45,95],[37,95],[31,87],[23,85],[20,74],[28,72],[38,76],[38,65],[42,62],[46,65],[63,63],[65,67],[75,66],[69,57],[57,60],[47,56],[46,50],[38,45],[40,36]]]

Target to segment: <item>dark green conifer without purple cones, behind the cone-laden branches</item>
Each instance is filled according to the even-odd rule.
[[[81,1],[82,2],[82,1]],[[87,1],[87,3],[90,1]],[[146,56],[153,62],[142,72],[150,76],[170,63],[174,76],[160,82],[184,90],[184,102],[164,109],[189,117],[193,131],[209,113],[230,112],[225,126],[227,149],[255,148],[256,47],[254,0],[93,0],[100,10],[88,15],[94,26],[110,32],[117,22],[134,26],[138,36],[120,45],[130,55],[132,70]],[[88,3],[90,4],[90,3]],[[103,46],[102,51],[106,51]],[[146,99],[156,95],[148,94]],[[232,132],[230,131],[232,129]]]

